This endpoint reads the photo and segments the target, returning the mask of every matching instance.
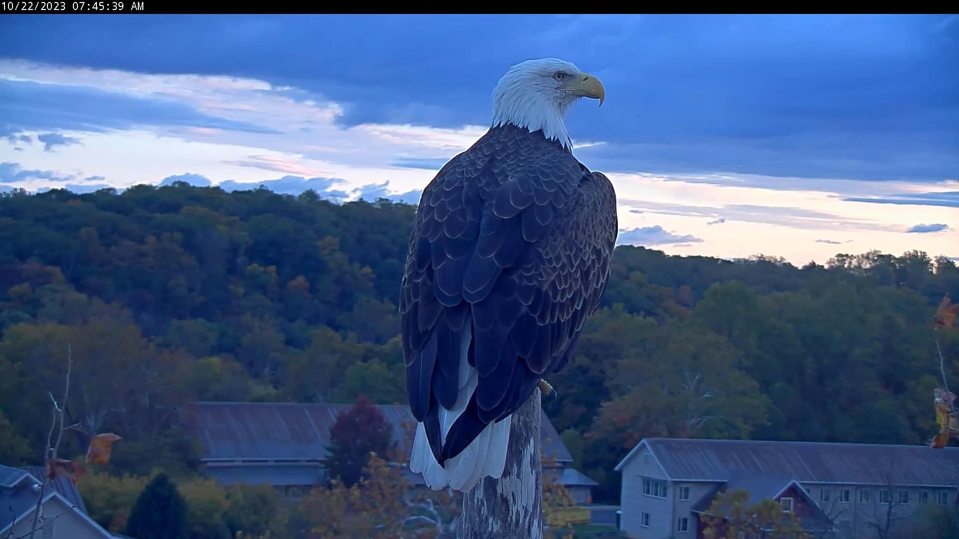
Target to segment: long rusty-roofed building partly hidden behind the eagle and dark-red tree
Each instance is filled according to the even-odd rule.
[[[184,411],[184,425],[199,439],[206,474],[222,484],[268,483],[284,496],[304,496],[326,480],[322,458],[337,414],[351,405],[198,402]],[[409,456],[416,421],[408,406],[377,405],[392,427],[401,454]],[[592,501],[597,484],[571,468],[573,457],[546,413],[542,415],[543,452],[555,460],[553,474],[578,503]],[[425,486],[422,474],[405,468],[409,480]]]

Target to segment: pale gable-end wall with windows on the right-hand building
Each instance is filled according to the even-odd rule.
[[[643,494],[643,478],[666,481],[667,498],[661,499]],[[675,490],[675,485],[668,480],[666,472],[643,447],[622,470],[620,529],[629,537],[638,539],[669,537],[676,526],[672,506],[673,500],[678,495]],[[643,513],[649,514],[648,527],[643,526]],[[691,536],[694,537],[694,535]]]

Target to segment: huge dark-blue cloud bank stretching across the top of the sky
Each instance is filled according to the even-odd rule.
[[[955,28],[949,15],[425,14],[36,17],[2,31],[11,58],[296,86],[292,100],[341,104],[346,126],[488,125],[508,65],[559,56],[607,88],[569,121],[577,140],[607,142],[577,150],[607,170],[942,179],[959,176]]]

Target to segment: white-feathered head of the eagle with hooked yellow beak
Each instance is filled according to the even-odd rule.
[[[527,59],[510,67],[493,88],[493,126],[543,129],[547,138],[570,148],[563,118],[584,97],[598,99],[602,105],[606,91],[596,77],[566,60]]]

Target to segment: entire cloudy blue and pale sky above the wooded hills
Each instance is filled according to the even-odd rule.
[[[177,179],[416,203],[525,59],[620,244],[959,257],[959,15],[8,15],[0,191]]]

